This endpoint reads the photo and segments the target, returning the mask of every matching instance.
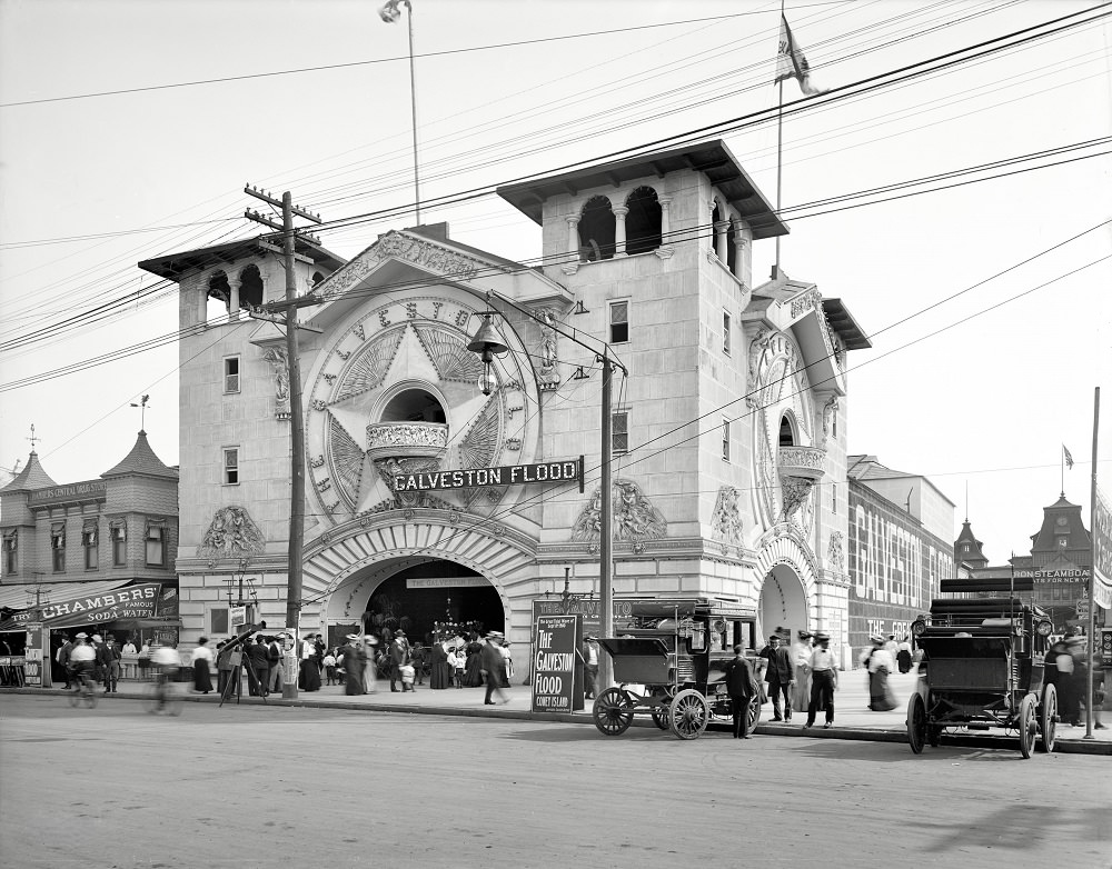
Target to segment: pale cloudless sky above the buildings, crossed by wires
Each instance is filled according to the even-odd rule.
[[[534,262],[539,228],[495,186],[694,131],[725,139],[775,202],[780,6],[413,0],[423,222]],[[135,442],[145,394],[151,447],[177,463],[176,290],[136,263],[258,234],[245,183],[341,220],[319,236],[342,257],[414,223],[408,19],[377,10],[0,0],[0,469],[26,463],[33,426],[56,482],[99,477]],[[1095,21],[832,99],[1086,10]],[[806,108],[783,87],[781,267],[872,338],[850,354],[850,452],[929,478],[954,502],[954,536],[967,517],[992,563],[1030,550],[1063,488],[1089,526],[1096,388],[1112,493],[1110,13],[786,2],[832,93]],[[754,283],[774,258],[755,246]]]

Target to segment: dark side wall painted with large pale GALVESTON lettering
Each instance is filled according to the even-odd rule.
[[[860,483],[850,486],[850,645],[900,640],[931,608],[939,580],[954,576],[953,541],[923,530],[906,511]]]

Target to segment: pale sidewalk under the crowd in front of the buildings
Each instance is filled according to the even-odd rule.
[[[915,682],[915,672],[906,675],[894,675],[891,678],[892,688],[900,705],[891,712],[872,712],[868,710],[868,690],[866,688],[866,677],[864,671],[853,670],[840,673],[838,690],[834,695],[834,727],[824,730],[821,727],[822,716],[820,715],[817,727],[808,730],[803,729],[803,723],[807,720],[806,712],[796,712],[791,723],[771,723],[772,707],[765,705],[762,709],[761,722],[757,725],[756,733],[761,736],[785,736],[785,737],[810,737],[813,739],[855,739],[871,740],[875,742],[906,742],[907,730],[905,725],[907,698],[912,686]],[[220,698],[215,693],[195,695],[189,691],[186,683],[176,686],[182,693],[183,699],[192,702],[219,703]],[[103,702],[111,702],[116,698],[139,699],[143,695],[145,682],[120,683],[120,690],[116,695],[102,696]],[[60,693],[57,688],[0,688],[0,693]],[[338,709],[357,709],[376,712],[406,712],[410,715],[447,715],[464,717],[484,718],[507,718],[529,721],[563,721],[568,723],[583,725],[594,729],[590,716],[590,701],[586,701],[583,711],[579,712],[533,712],[529,709],[532,695],[528,686],[523,686],[515,680],[515,685],[506,691],[509,695],[509,702],[499,706],[484,706],[485,691],[481,688],[447,688],[434,691],[428,685],[417,686],[414,692],[400,691],[390,692],[389,682],[379,682],[379,689],[375,693],[357,695],[348,697],[344,693],[344,686],[324,686],[319,691],[298,691],[297,700],[284,700],[278,695],[266,698],[267,706],[298,706],[298,707],[320,707]],[[232,698],[225,706],[236,706]],[[250,697],[247,695],[246,683],[241,703],[264,705],[264,698]],[[1093,730],[1093,739],[1084,739],[1085,727],[1070,727],[1063,722],[1058,725],[1058,739],[1055,751],[1063,753],[1084,755],[1106,755],[1112,756],[1112,712],[1104,712],[1106,730]],[[634,718],[634,726],[655,727],[648,715],[638,713]],[[728,722],[713,721],[707,730],[709,732],[726,732]],[[943,745],[949,737],[943,737]],[[993,747],[1006,748],[1009,742],[1015,745],[1019,751],[1017,741],[1009,740],[999,729],[969,737],[972,740],[989,740]],[[1036,741],[1037,750],[1037,741]],[[910,749],[909,749],[910,752]]]

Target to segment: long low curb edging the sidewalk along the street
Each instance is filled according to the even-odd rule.
[[[42,695],[46,697],[57,697],[61,693],[58,688],[8,688],[0,687],[0,695]],[[103,696],[101,695],[101,698]],[[141,691],[117,691],[116,698],[125,700],[141,700],[143,693]],[[111,699],[116,699],[111,698]],[[181,700],[190,703],[218,703],[220,698],[217,696],[202,696],[202,695],[190,695],[182,693]],[[292,709],[342,709],[350,712],[390,712],[393,715],[427,715],[427,716],[451,716],[456,718],[502,718],[517,721],[544,721],[548,723],[564,723],[564,725],[594,725],[590,717],[590,712],[533,712],[525,711],[520,709],[506,709],[495,707],[494,709],[467,709],[453,706],[414,706],[414,707],[398,707],[391,703],[376,703],[374,701],[363,701],[363,702],[345,702],[344,700],[302,700],[298,698],[297,700],[286,700],[284,698],[266,699],[260,697],[242,697],[239,700],[229,700],[225,706],[269,706],[269,707],[286,707]],[[656,725],[652,722],[647,717],[638,717],[633,721],[633,727],[648,727],[656,728]],[[729,730],[729,725],[713,722],[707,726],[707,730],[714,732],[727,732]],[[812,727],[804,730],[802,726],[796,725],[774,725],[774,723],[758,723],[754,729],[754,735],[756,736],[775,736],[775,737],[805,737],[807,739],[842,739],[842,740],[853,740],[863,742],[902,742],[907,743],[907,735],[903,729],[900,730],[873,730],[868,728],[861,727],[838,727],[835,725],[830,730],[825,730],[821,727]],[[961,746],[966,747],[989,747],[997,748],[1002,750],[1014,749],[1015,740],[1009,739],[1006,737],[997,736],[943,736],[943,746]],[[1036,753],[1041,753],[1037,752]],[[1100,740],[1082,740],[1082,739],[1063,739],[1061,733],[1059,733],[1056,745],[1054,746],[1055,755],[1092,755],[1092,756],[1104,756],[1112,757],[1112,742],[1102,742]]]

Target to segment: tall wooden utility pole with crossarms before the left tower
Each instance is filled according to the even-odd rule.
[[[277,229],[282,233],[282,256],[286,266],[286,362],[289,376],[289,419],[290,419],[290,509],[289,509],[289,556],[288,579],[286,583],[286,630],[294,637],[294,642],[286,650],[285,672],[282,673],[282,698],[297,699],[297,638],[301,613],[301,549],[305,541],[305,418],[301,414],[301,369],[297,357],[297,276],[294,263],[298,254],[294,250],[294,214],[315,223],[320,223],[320,216],[314,214],[294,206],[294,199],[287,190],[281,194],[281,201],[276,200],[265,191],[254,187],[245,187],[244,192],[264,202],[281,208],[281,224],[257,211],[247,211],[246,217],[257,223]],[[301,258],[305,259],[305,258]]]

